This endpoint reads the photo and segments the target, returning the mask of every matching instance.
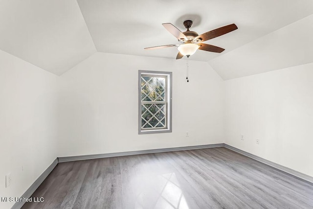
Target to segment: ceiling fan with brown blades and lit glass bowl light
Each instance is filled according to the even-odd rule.
[[[170,32],[172,35],[174,35],[178,41],[179,44],[171,44],[171,45],[163,45],[163,46],[153,46],[153,47],[147,47],[144,49],[156,49],[156,48],[166,48],[166,47],[172,47],[172,46],[178,46],[178,54],[176,56],[176,59],[181,59],[183,56],[189,57],[193,55],[197,49],[201,49],[204,51],[211,51],[211,52],[217,52],[221,53],[224,51],[224,48],[213,46],[209,44],[204,44],[203,42],[216,38],[218,36],[222,36],[226,33],[229,33],[233,30],[238,29],[236,24],[229,24],[211,31],[208,31],[206,33],[203,33],[201,35],[198,35],[195,31],[190,31],[189,28],[192,25],[191,20],[184,21],[184,26],[187,28],[185,32],[181,32],[177,27],[175,27],[171,23],[163,23],[162,25]]]

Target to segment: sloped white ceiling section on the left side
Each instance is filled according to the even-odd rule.
[[[0,49],[57,75],[96,52],[76,0],[0,0]]]

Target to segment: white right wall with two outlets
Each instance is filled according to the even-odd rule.
[[[313,176],[313,63],[224,84],[225,142]]]

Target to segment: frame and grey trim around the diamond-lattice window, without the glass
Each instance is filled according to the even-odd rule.
[[[142,130],[141,128],[141,76],[164,76],[166,79],[166,127],[165,128],[150,128]],[[160,102],[162,103],[162,102]],[[153,133],[169,133],[172,132],[172,72],[166,71],[151,71],[138,70],[138,134],[153,134]]]

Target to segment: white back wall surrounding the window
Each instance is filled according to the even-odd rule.
[[[138,135],[138,70],[173,72],[172,133]],[[60,77],[59,156],[224,142],[223,80],[199,61],[189,77],[184,59],[92,55]]]

